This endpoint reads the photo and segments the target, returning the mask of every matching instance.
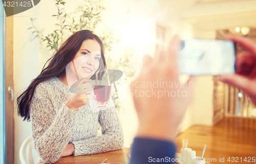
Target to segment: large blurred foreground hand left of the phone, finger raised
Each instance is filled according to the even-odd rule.
[[[148,55],[143,58],[141,74],[131,84],[140,123],[138,137],[173,140],[176,135],[193,96],[193,87],[188,83],[187,88],[180,86],[176,60],[179,49],[180,41],[175,36],[166,52],[159,53],[155,59]]]

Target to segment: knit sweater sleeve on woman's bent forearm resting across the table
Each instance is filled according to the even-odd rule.
[[[97,154],[122,148],[123,132],[113,107],[99,111],[99,124],[102,135],[74,142],[74,155]]]

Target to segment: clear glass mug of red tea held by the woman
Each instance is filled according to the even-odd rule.
[[[107,108],[110,100],[111,80],[93,80],[94,99],[97,102],[95,108]]]

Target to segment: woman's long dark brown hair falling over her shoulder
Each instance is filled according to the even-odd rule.
[[[91,77],[92,80],[102,79],[106,69],[106,62],[103,52],[103,43],[100,38],[89,30],[81,30],[72,34],[59,48],[59,50],[48,60],[50,61],[47,67],[46,64],[42,68],[39,76],[32,80],[29,87],[17,97],[18,115],[24,118],[24,121],[30,121],[30,103],[34,95],[36,86],[52,77],[60,77],[66,74],[66,66],[72,61],[76,53],[79,51],[82,42],[87,39],[96,40],[100,44],[101,58],[99,68]],[[47,61],[47,62],[48,62]],[[47,63],[46,62],[46,63]],[[96,76],[96,74],[98,76]]]

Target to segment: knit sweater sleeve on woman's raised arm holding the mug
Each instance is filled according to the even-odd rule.
[[[39,94],[37,92],[31,101],[32,133],[34,146],[41,160],[53,163],[61,157],[68,145],[79,115],[65,103],[59,109],[54,109],[44,93],[44,90]]]

